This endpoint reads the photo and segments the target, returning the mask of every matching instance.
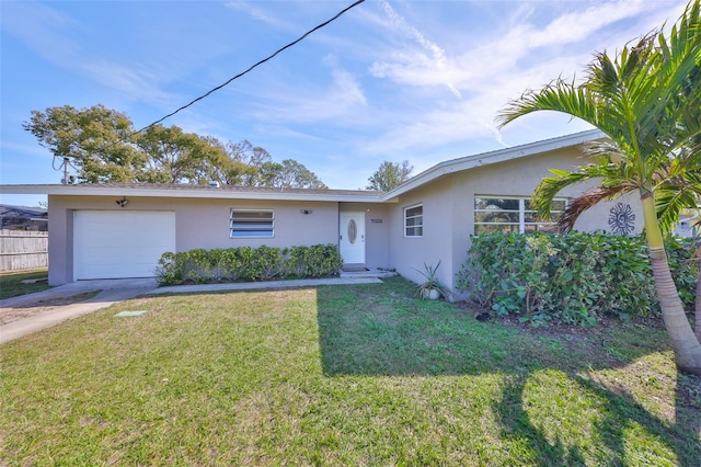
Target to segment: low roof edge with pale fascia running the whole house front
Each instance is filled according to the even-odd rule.
[[[391,203],[397,197],[429,183],[441,176],[485,167],[508,160],[543,153],[555,149],[577,146],[583,143],[604,138],[598,129],[545,139],[512,148],[467,156],[440,162],[418,175],[388,192],[363,190],[309,190],[309,189],[273,189],[253,186],[211,187],[208,185],[165,185],[150,183],[85,183],[73,185],[38,184],[38,185],[0,185],[0,191],[8,194],[47,194],[71,196],[159,196],[159,197],[196,197],[220,200],[275,200],[275,201],[318,201],[318,202],[360,202]]]

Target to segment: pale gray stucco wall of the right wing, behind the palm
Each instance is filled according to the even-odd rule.
[[[467,260],[470,236],[474,234],[475,195],[528,197],[540,180],[551,175],[550,168],[573,170],[584,162],[578,148],[559,149],[446,175],[403,194],[390,215],[390,262],[401,275],[421,283],[423,276],[416,270],[423,270],[424,262],[435,265],[440,261],[439,281],[458,292],[456,274]],[[577,196],[591,185],[572,186],[561,196]],[[634,194],[589,209],[579,218],[575,229],[609,231],[609,210],[619,202],[631,205],[636,218],[634,234],[639,234],[642,230],[642,210]],[[416,203],[424,206],[424,237],[404,238],[403,208]]]

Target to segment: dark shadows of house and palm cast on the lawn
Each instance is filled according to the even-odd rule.
[[[376,288],[377,287],[377,288]],[[378,294],[378,288],[381,291]],[[418,300],[403,280],[384,285],[319,287],[318,322],[323,372],[329,377],[480,375],[499,373],[506,385],[493,402],[505,438],[527,444],[537,465],[584,465],[578,445],[566,446],[530,420],[524,391],[540,372],[555,372],[577,391],[601,403],[605,414],[593,432],[616,458],[628,465],[625,430],[642,425],[677,455],[682,466],[699,466],[701,379],[678,375],[676,423],[663,421],[622,388],[608,388],[581,376],[621,368],[643,356],[667,351],[664,333],[629,324],[610,330],[536,335],[499,323],[482,323],[473,312],[445,301]],[[634,374],[635,369],[630,369]],[[532,384],[532,383],[531,383]],[[690,389],[691,388],[691,389]],[[681,394],[685,392],[685,394]],[[567,414],[560,417],[567,418]],[[576,421],[574,421],[576,424]],[[576,431],[576,426],[573,428]]]

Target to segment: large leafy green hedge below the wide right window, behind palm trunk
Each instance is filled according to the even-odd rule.
[[[693,304],[698,240],[669,238],[667,255],[685,305]],[[594,326],[599,316],[659,312],[643,237],[573,232],[472,238],[458,288],[497,316],[533,326]]]

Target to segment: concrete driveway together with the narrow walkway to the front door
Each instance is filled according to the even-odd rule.
[[[66,320],[77,318],[82,315],[108,307],[117,301],[138,297],[139,295],[154,294],[191,294],[203,292],[225,292],[225,291],[252,291],[252,289],[275,289],[275,288],[297,288],[315,287],[319,285],[341,285],[341,284],[381,284],[378,276],[347,276],[338,278],[317,278],[301,281],[271,281],[250,282],[232,284],[199,284],[199,285],[176,285],[169,287],[158,287],[153,278],[134,280],[105,280],[105,281],[79,281],[71,284],[49,288],[48,291],[35,294],[22,295],[19,297],[0,300],[0,308],[21,308],[30,306],[42,306],[43,301],[57,298],[67,298],[88,292],[101,291],[91,299],[70,305],[50,306],[51,309],[32,317],[18,319],[0,326],[0,344],[13,341],[23,335],[42,329],[50,328]]]

